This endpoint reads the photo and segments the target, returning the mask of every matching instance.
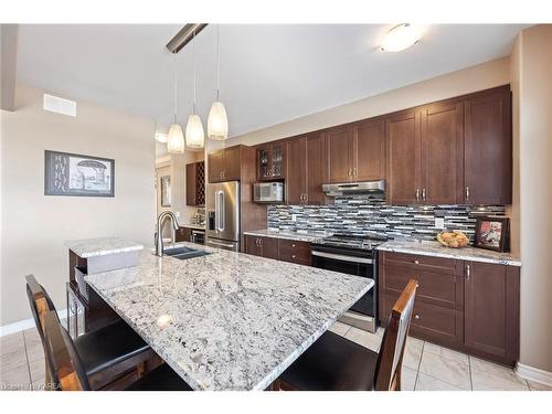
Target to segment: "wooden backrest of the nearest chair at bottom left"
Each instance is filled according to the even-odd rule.
[[[55,310],[44,316],[44,350],[50,371],[51,390],[89,390],[88,376],[71,336],[62,327]]]

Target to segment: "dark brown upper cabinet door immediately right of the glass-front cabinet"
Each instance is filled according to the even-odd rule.
[[[286,142],[286,203],[307,202],[307,137],[297,137]]]

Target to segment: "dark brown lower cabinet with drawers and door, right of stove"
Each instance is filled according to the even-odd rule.
[[[380,253],[380,325],[407,280],[418,280],[413,337],[514,365],[519,358],[519,267]]]

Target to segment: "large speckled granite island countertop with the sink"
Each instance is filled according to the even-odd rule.
[[[194,390],[264,390],[373,280],[230,251],[139,265],[86,282]]]

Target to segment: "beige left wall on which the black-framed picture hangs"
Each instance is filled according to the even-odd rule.
[[[86,102],[76,118],[47,113],[42,94],[18,85],[15,112],[1,113],[1,326],[31,317],[30,273],[65,308],[65,240],[153,240],[153,121]],[[45,149],[115,159],[115,198],[44,195]]]

